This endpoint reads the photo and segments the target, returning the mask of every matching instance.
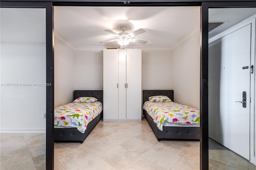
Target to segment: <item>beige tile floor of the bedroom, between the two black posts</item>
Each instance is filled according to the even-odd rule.
[[[146,119],[100,121],[84,143],[55,143],[58,170],[199,170],[200,143],[158,142]]]

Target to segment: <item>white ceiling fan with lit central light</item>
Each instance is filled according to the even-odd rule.
[[[109,40],[109,41],[102,41],[100,43],[107,43],[107,42],[112,42],[112,41],[117,41],[117,43],[121,46],[121,48],[124,48],[128,43],[133,42],[133,43],[140,43],[140,44],[146,44],[148,41],[144,41],[141,39],[135,39],[133,37],[135,37],[136,35],[140,35],[144,32],[146,32],[144,29],[140,28],[134,32],[131,33],[127,33],[125,32],[125,30],[127,29],[126,26],[121,26],[120,29],[122,30],[122,32],[120,33],[115,33],[114,31],[111,30],[104,30],[107,31],[108,33],[111,33],[113,35],[115,35],[116,37],[118,37],[118,39],[113,39],[113,40]]]

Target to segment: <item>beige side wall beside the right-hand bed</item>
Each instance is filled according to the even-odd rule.
[[[174,101],[200,109],[200,32],[172,50]]]

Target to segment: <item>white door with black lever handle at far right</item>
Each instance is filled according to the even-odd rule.
[[[250,43],[251,24],[222,37],[220,66],[220,121],[223,127],[223,145],[248,160],[250,160]],[[246,92],[245,108],[241,103],[243,92]]]

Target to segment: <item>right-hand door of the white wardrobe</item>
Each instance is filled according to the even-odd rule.
[[[141,120],[141,49],[126,50],[126,119]]]

